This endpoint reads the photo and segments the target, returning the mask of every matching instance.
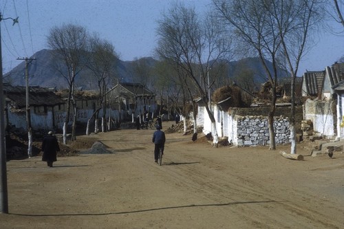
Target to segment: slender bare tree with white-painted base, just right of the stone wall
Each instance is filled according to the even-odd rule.
[[[291,74],[291,118],[290,139],[291,152],[297,153],[295,129],[295,80],[299,63],[307,48],[310,32],[317,28],[321,21],[321,6],[316,0],[304,1],[271,1],[265,5],[268,14],[277,23],[277,31],[281,41],[281,50]]]

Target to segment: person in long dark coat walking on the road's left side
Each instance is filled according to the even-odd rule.
[[[42,161],[47,162],[47,166],[52,167],[52,163],[56,162],[56,151],[60,151],[56,136],[49,131],[43,138],[42,142],[43,157]]]

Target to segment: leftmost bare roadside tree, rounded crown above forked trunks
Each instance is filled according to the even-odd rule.
[[[63,143],[67,144],[67,125],[70,120],[70,108],[73,106],[72,140],[76,139],[76,102],[74,100],[75,78],[85,67],[85,52],[87,51],[88,34],[85,28],[79,25],[63,24],[54,27],[47,36],[47,44],[58,58],[67,67],[67,72],[60,73],[67,80],[69,94],[67,99],[67,114],[63,124]]]

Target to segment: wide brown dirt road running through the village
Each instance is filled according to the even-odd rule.
[[[164,124],[166,126],[166,124]],[[153,130],[80,136],[109,154],[10,161],[0,228],[344,228],[344,155],[288,160],[290,146],[214,149],[167,133],[162,166]]]

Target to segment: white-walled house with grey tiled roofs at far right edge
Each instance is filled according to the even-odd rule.
[[[343,63],[327,66],[323,71],[303,74],[304,120],[310,120],[313,132],[324,138],[343,138],[341,85]]]

